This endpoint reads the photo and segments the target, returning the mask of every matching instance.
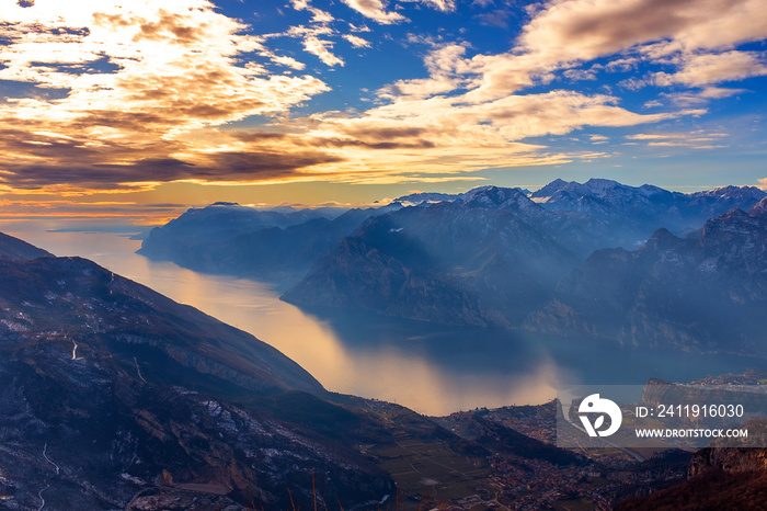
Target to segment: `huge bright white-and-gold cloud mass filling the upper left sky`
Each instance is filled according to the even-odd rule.
[[[211,147],[215,137],[204,130],[285,113],[329,90],[314,77],[264,76],[262,67],[240,60],[264,52],[262,42],[205,0],[121,5],[100,2],[92,12],[37,0],[3,8],[0,80],[61,91],[0,103],[4,188],[117,183],[115,190],[124,190],[201,175],[257,179],[263,171],[254,166],[216,167],[215,154],[233,160]],[[253,157],[275,162],[268,150]],[[335,157],[299,151],[283,159],[281,175]]]

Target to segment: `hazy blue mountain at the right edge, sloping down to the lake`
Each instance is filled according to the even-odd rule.
[[[637,250],[594,252],[526,326],[764,354],[765,306],[767,198],[687,238],[659,229]]]

